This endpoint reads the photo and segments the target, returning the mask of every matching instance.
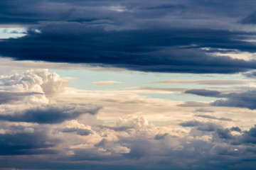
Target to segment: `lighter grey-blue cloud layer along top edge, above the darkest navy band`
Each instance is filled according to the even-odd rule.
[[[114,11],[113,6],[123,6],[122,11]],[[200,19],[245,18],[255,11],[255,1],[31,1],[18,0],[0,2],[1,23],[38,23],[39,21],[78,21],[92,18],[104,19],[114,24],[127,25],[137,18],[141,23],[153,22],[154,18],[164,22],[172,16],[180,20],[194,22]],[[122,21],[122,18],[126,20]],[[153,21],[151,21],[153,19]],[[145,20],[145,21],[144,21]],[[156,21],[154,21],[156,22]],[[164,23],[163,22],[163,23]],[[209,21],[210,22],[210,21]],[[139,23],[139,22],[137,22]],[[161,23],[158,21],[158,23]],[[162,24],[163,24],[162,23]],[[196,23],[195,23],[196,24]]]

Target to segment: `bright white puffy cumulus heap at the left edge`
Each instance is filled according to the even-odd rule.
[[[47,69],[36,69],[0,76],[0,103],[49,103],[64,91],[67,79]]]

